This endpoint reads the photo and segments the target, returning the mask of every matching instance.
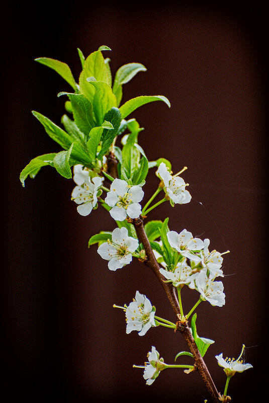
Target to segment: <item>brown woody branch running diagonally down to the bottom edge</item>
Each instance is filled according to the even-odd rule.
[[[162,285],[166,296],[171,304],[171,307],[175,313],[176,316],[176,324],[177,324],[177,330],[181,332],[183,335],[184,339],[186,340],[189,349],[191,353],[194,356],[195,359],[195,364],[197,371],[201,375],[210,395],[212,398],[212,401],[214,403],[219,403],[220,402],[220,393],[218,392],[212,377],[208,371],[208,368],[200,354],[200,351],[198,350],[198,347],[195,343],[195,340],[193,338],[193,335],[190,331],[190,328],[188,327],[188,324],[186,322],[181,322],[181,315],[180,315],[180,305],[178,303],[177,297],[176,297],[176,288],[172,285],[172,283],[165,283],[163,280],[165,279],[164,276],[160,273],[159,271],[159,265],[158,262],[152,252],[149,240],[147,238],[147,235],[144,230],[144,225],[143,225],[143,219],[142,218],[136,218],[133,220],[136,233],[139,239],[139,242],[143,244],[144,250],[146,252],[146,257],[147,259],[145,260],[145,265],[150,267],[154,274],[157,276],[160,284]]]

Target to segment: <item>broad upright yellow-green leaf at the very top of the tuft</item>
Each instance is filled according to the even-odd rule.
[[[102,49],[101,50],[105,50]],[[87,82],[88,77],[95,77],[97,81],[104,82],[111,86],[111,76],[101,50],[91,53],[84,61],[83,70],[79,76],[80,92],[84,94],[87,100],[92,104],[96,90]],[[116,97],[115,97],[115,105]],[[110,109],[110,108],[109,108]]]

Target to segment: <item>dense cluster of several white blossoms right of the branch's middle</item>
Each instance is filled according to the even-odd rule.
[[[160,273],[175,287],[186,284],[196,289],[202,300],[207,300],[213,306],[223,306],[223,283],[215,281],[217,276],[223,277],[223,258],[217,251],[209,252],[209,239],[203,241],[194,238],[186,229],[179,234],[175,231],[167,232],[167,239],[170,246],[181,255],[181,259],[173,270],[160,268]]]

